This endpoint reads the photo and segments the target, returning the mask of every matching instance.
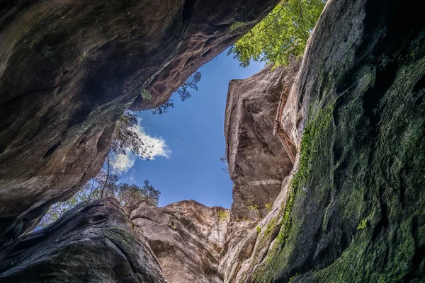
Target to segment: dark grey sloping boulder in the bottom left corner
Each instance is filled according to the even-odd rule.
[[[80,204],[2,249],[0,282],[167,281],[140,229],[106,198]]]

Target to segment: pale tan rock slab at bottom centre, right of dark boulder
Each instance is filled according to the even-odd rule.
[[[217,268],[227,234],[227,209],[190,200],[166,207],[133,203],[126,210],[142,229],[169,282],[222,282]],[[221,219],[219,211],[225,215]]]

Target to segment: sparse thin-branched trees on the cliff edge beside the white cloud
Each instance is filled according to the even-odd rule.
[[[126,111],[115,125],[111,151],[103,164],[102,170],[69,200],[53,204],[45,216],[42,217],[39,224],[40,227],[52,224],[64,212],[81,202],[88,202],[101,197],[115,197],[123,205],[132,200],[146,200],[149,204],[158,205],[161,192],[155,190],[149,180],[145,180],[142,187],[129,185],[128,183],[118,183],[120,174],[113,166],[118,154],[127,154],[128,151],[145,156],[147,159],[150,158],[152,146],[149,146],[140,138],[135,131],[135,125],[137,125],[136,115]]]

